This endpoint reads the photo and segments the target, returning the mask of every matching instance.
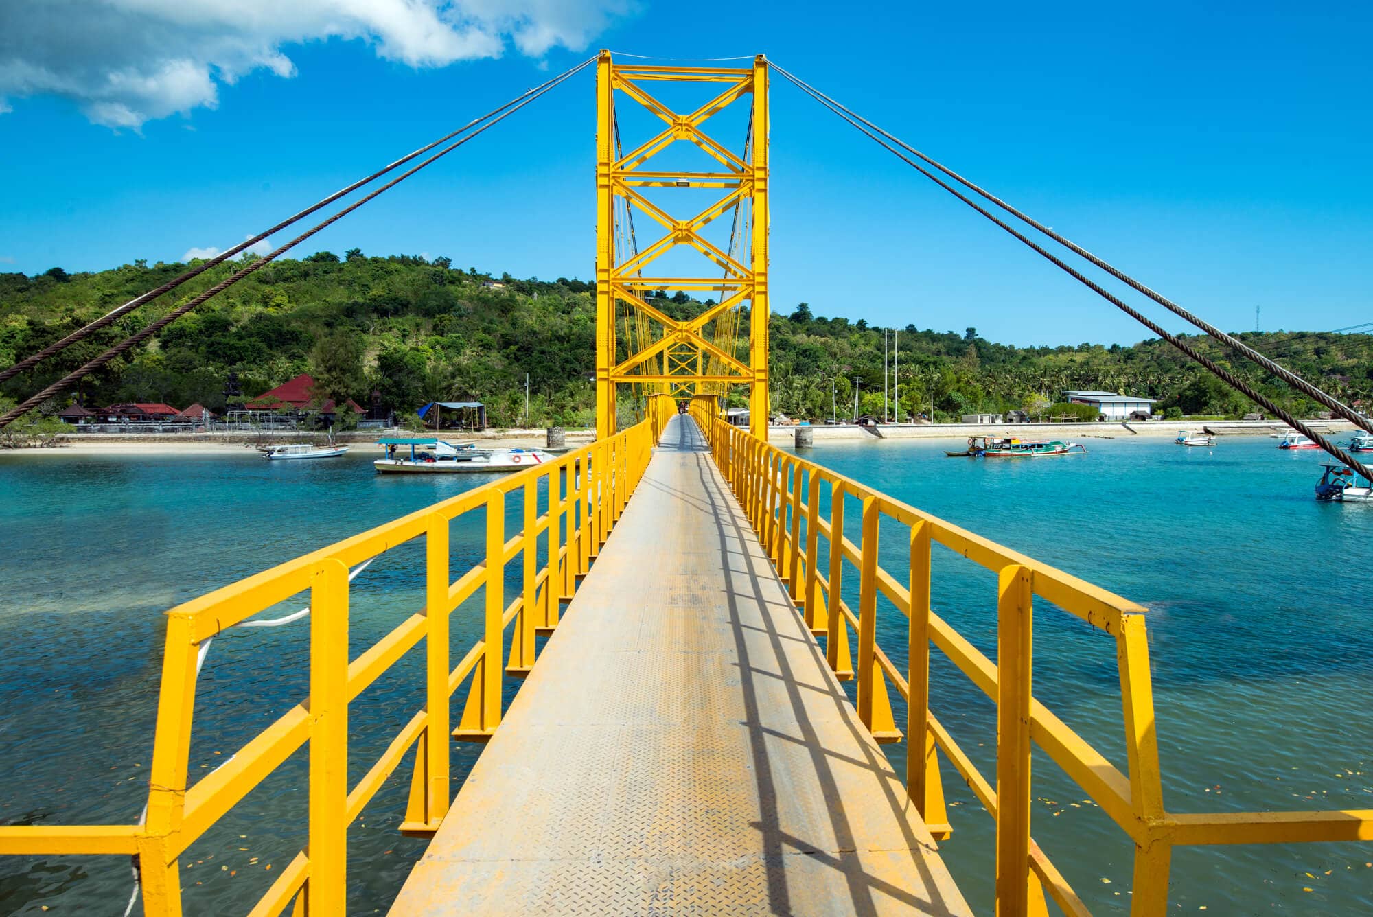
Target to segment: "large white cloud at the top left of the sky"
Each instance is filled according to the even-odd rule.
[[[411,67],[582,49],[636,0],[4,0],[0,114],[58,95],[95,124],[214,108],[254,70],[295,76],[286,47],[358,40]]]

